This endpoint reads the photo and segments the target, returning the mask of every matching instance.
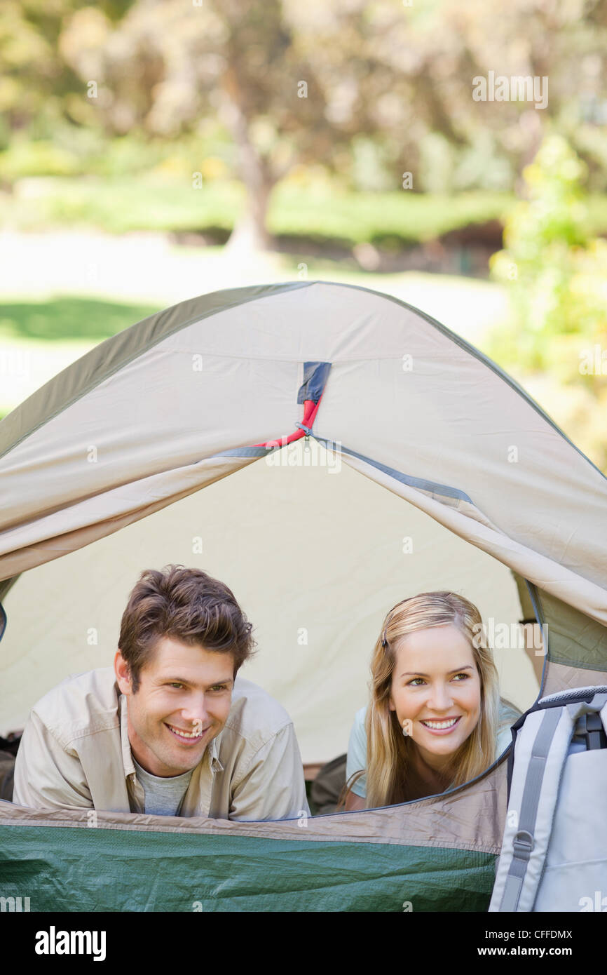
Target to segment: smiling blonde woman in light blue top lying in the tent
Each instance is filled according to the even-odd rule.
[[[476,606],[422,593],[384,621],[371,699],[355,719],[346,809],[434,796],[474,779],[508,747],[519,712],[502,702]]]

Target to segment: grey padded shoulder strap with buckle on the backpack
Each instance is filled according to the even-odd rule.
[[[581,715],[600,711],[605,700],[605,694],[597,693],[589,704],[563,701],[558,707],[532,711],[518,731],[490,912],[533,911],[575,722]]]

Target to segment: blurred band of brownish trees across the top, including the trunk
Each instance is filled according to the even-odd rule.
[[[170,142],[217,117],[247,186],[234,241],[267,246],[294,166],[367,189],[507,189],[549,119],[605,189],[606,57],[607,0],[510,0],[499,17],[486,0],[4,0],[0,140],[64,118]],[[490,73],[547,78],[546,106],[475,100]]]

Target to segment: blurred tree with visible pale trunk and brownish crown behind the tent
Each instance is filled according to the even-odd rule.
[[[299,57],[281,0],[138,0],[113,29],[86,8],[61,36],[61,53],[81,78],[98,79],[108,131],[143,129],[176,138],[216,115],[236,147],[247,212],[232,248],[267,248],[273,186],[295,164],[334,152],[339,138],[322,112],[322,92]],[[348,138],[345,139],[347,145]]]

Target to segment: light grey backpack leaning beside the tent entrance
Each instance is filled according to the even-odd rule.
[[[607,686],[550,694],[512,725],[490,912],[607,911]]]

